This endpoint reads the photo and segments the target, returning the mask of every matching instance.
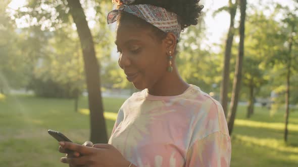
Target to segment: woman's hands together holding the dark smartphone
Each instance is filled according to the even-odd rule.
[[[128,167],[130,162],[110,144],[94,144],[88,147],[71,142],[59,142],[62,149],[69,149],[81,156],[62,157],[61,162],[69,163],[70,166],[87,166],[87,167],[109,167],[119,166]]]

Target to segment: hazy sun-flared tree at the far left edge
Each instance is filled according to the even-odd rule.
[[[28,78],[29,65],[24,63],[20,44],[24,40],[16,31],[15,23],[6,13],[10,1],[0,2],[0,93],[8,94],[10,89],[24,87]]]

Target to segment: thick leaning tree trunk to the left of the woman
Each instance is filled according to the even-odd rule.
[[[108,136],[101,96],[100,67],[95,56],[92,35],[80,1],[67,0],[67,2],[70,14],[77,27],[83,52],[90,110],[90,141],[93,143],[107,143]]]

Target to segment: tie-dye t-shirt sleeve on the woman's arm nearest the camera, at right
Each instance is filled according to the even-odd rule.
[[[230,166],[230,160],[230,137],[218,131],[192,144],[187,152],[186,167],[225,167]]]

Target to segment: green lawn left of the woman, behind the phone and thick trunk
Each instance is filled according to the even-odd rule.
[[[124,99],[104,99],[113,116]],[[87,108],[82,99],[79,108]],[[110,116],[111,117],[111,116]],[[108,134],[114,119],[107,119]],[[89,116],[74,112],[74,101],[30,96],[7,97],[0,102],[0,166],[65,166],[58,143],[47,129],[59,130],[74,142],[89,139]]]

